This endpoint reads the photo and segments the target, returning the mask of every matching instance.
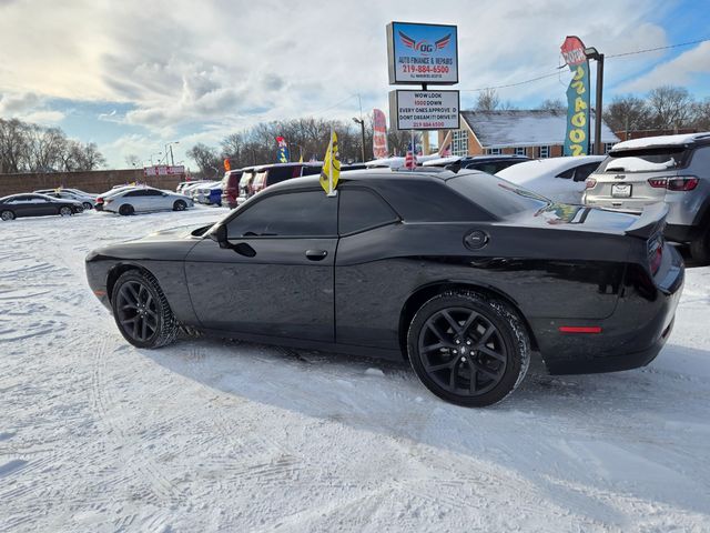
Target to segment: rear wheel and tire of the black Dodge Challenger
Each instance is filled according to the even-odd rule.
[[[445,292],[422,305],[407,332],[407,352],[424,386],[466,408],[504,400],[530,363],[530,341],[518,314],[471,291]]]

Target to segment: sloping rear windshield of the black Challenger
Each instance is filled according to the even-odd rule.
[[[480,172],[457,175],[446,183],[497,218],[539,210],[551,203],[547,198],[515,183]]]

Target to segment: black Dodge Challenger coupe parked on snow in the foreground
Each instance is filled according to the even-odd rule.
[[[95,250],[94,294],[140,348],[179,328],[408,359],[434,394],[489,405],[530,351],[551,373],[648,364],[668,339],[683,263],[666,208],[552,203],[483,172],[343,173],[270,187],[213,227]]]

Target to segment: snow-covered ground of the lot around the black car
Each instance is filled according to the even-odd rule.
[[[85,253],[224,212],[0,224],[0,531],[710,531],[710,268],[650,366],[466,410],[405,365],[129,345]]]

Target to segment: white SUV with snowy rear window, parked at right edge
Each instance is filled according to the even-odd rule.
[[[635,139],[615,144],[587,179],[588,205],[640,213],[666,202],[665,235],[710,261],[710,132]]]

